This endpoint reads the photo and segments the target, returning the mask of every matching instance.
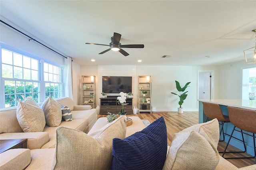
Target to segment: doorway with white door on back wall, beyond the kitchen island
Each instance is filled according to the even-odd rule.
[[[214,71],[198,71],[198,94],[197,99],[210,100],[214,99],[213,84]]]

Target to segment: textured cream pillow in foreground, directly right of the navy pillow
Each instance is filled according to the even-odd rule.
[[[214,170],[219,153],[198,132],[179,132],[169,148],[163,170]]]

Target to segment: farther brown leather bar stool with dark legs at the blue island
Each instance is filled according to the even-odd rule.
[[[230,122],[229,117],[226,115],[223,115],[220,109],[220,105],[214,104],[214,103],[207,103],[207,102],[202,102],[202,103],[203,103],[204,114],[207,116],[206,122],[209,121],[210,119],[215,119],[215,118],[218,119],[221,125],[220,135],[222,132],[223,140],[225,140],[224,134],[226,133],[224,133],[223,126],[224,126],[224,123]],[[223,141],[223,140],[219,140],[219,141]]]

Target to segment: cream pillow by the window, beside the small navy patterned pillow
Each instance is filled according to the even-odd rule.
[[[60,103],[50,97],[47,97],[41,107],[44,110],[46,124],[50,127],[58,127],[62,120]]]

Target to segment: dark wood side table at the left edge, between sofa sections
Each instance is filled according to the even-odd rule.
[[[0,153],[15,148],[27,148],[27,139],[4,139],[0,140]]]

